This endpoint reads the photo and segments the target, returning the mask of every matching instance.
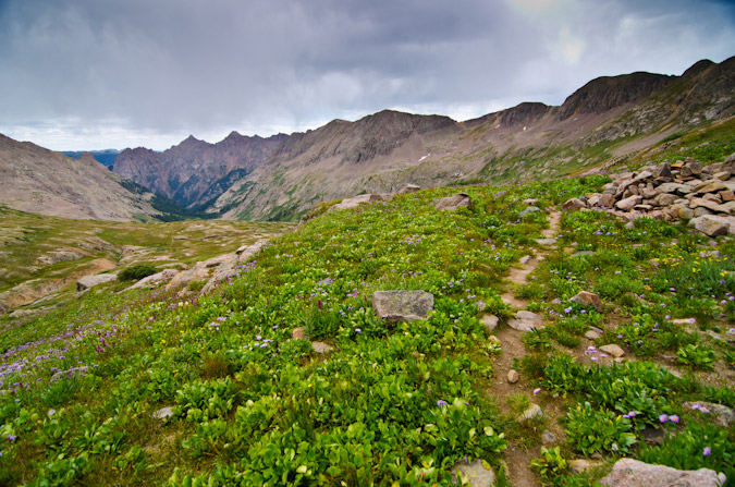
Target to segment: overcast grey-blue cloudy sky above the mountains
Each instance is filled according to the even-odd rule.
[[[0,133],[164,149],[392,108],[466,120],[735,54],[714,0],[0,0]]]

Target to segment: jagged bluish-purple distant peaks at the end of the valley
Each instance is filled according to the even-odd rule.
[[[207,205],[269,160],[286,136],[247,137],[232,132],[209,144],[189,136],[162,153],[138,147],[115,158],[113,171],[183,207]],[[228,183],[229,182],[229,183]]]

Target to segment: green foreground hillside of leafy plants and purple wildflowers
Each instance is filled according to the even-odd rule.
[[[735,243],[592,204],[651,169],[322,205],[3,316],[0,483],[731,483]]]

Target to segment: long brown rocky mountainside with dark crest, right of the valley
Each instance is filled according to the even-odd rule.
[[[511,182],[611,163],[735,114],[735,58],[682,76],[593,80],[562,106],[525,102],[479,119],[382,111],[284,138],[216,203],[225,218],[290,219],[314,205],[406,183]]]

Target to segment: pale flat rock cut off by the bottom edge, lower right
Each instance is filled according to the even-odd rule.
[[[721,487],[724,474],[709,468],[681,471],[665,465],[651,465],[633,459],[618,460],[600,483],[609,487]]]

